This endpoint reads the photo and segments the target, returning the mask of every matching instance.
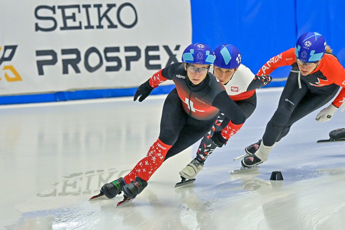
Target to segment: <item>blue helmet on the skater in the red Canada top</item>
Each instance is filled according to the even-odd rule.
[[[303,62],[320,60],[326,52],[325,38],[316,32],[302,34],[296,42],[295,55]]]

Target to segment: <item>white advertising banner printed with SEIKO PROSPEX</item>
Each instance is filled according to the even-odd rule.
[[[191,43],[190,0],[2,0],[0,15],[2,96],[137,87]]]

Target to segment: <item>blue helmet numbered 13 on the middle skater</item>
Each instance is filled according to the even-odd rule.
[[[213,65],[222,69],[236,69],[242,61],[241,53],[231,44],[224,44],[217,47],[214,55],[215,61]]]

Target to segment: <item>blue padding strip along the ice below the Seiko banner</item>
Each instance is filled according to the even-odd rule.
[[[282,87],[286,81],[272,81],[266,87]],[[152,90],[151,95],[167,94],[175,85],[159,86]],[[55,93],[41,93],[41,94],[28,94],[28,95],[15,95],[15,96],[0,96],[0,104],[24,104],[24,103],[40,103],[40,102],[53,102],[53,101],[69,101],[69,100],[82,100],[82,99],[96,99],[96,98],[113,98],[113,97],[129,97],[133,96],[136,88],[128,89],[93,89],[93,90],[76,90],[67,92]]]

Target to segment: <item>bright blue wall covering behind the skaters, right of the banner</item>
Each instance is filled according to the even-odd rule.
[[[345,1],[191,0],[191,10],[193,42],[205,42],[212,49],[233,44],[254,73],[308,31],[322,34],[345,66]],[[287,77],[289,70],[278,68],[272,76]]]

